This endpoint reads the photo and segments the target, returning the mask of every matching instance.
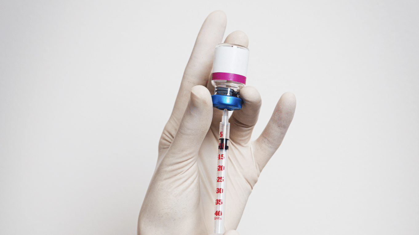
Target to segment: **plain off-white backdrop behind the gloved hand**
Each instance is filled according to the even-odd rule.
[[[248,85],[297,109],[241,235],[419,234],[419,2],[1,1],[0,233],[134,235],[194,40],[224,10]]]

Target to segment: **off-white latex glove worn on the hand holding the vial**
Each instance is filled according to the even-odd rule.
[[[222,111],[212,108],[210,93],[214,87],[209,77],[215,46],[222,40],[226,22],[225,13],[215,11],[208,15],[199,31],[172,114],[160,138],[157,166],[138,218],[140,235],[213,233]],[[241,31],[231,33],[225,42],[248,46],[248,38]],[[225,231],[237,228],[252,188],[281,144],[295,111],[295,96],[283,94],[266,128],[251,142],[261,97],[251,86],[241,89],[240,96],[243,108],[234,111],[229,120]],[[230,232],[237,234],[235,231],[226,234]]]

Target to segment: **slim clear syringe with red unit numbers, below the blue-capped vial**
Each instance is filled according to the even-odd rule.
[[[227,111],[225,111],[227,112]],[[228,115],[227,115],[228,119]],[[214,233],[224,233],[224,214],[225,214],[225,195],[227,186],[227,163],[228,163],[228,144],[229,144],[230,123],[223,116],[220,122],[219,145],[217,156],[217,182],[215,189],[215,214],[214,214]]]

